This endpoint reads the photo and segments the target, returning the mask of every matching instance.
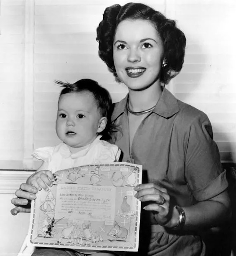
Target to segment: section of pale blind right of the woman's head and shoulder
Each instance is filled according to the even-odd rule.
[[[185,32],[187,48],[173,92],[208,115],[222,162],[235,162],[236,2],[178,0],[175,7],[174,16]]]

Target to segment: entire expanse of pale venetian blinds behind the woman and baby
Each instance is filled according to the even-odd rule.
[[[89,77],[112,100],[125,96],[98,58],[96,28],[105,7],[121,0],[1,0],[0,169],[35,169],[34,149],[59,142],[60,88],[53,80]],[[146,0],[177,20],[187,37],[183,70],[167,88],[204,111],[225,162],[236,161],[234,0]]]

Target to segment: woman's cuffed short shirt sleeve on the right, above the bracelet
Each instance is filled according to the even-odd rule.
[[[185,137],[185,177],[197,201],[208,200],[228,187],[208,117],[201,113]]]

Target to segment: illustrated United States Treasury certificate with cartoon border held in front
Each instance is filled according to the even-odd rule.
[[[31,204],[28,243],[40,247],[138,251],[142,166],[84,165],[53,174]]]

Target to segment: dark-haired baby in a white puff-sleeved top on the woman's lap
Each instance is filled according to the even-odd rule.
[[[91,79],[81,79],[73,84],[56,83],[64,87],[60,92],[56,118],[56,134],[62,143],[39,148],[32,154],[43,161],[39,169],[27,179],[27,184],[37,190],[49,190],[55,180],[53,173],[57,170],[118,162],[121,153],[116,145],[101,140],[110,139],[115,130],[111,124],[111,97],[108,91]],[[37,248],[33,255],[38,255],[39,250],[50,255],[50,251],[56,249]],[[94,256],[114,255],[94,250],[68,251],[70,255],[78,256],[91,253],[95,253]]]

